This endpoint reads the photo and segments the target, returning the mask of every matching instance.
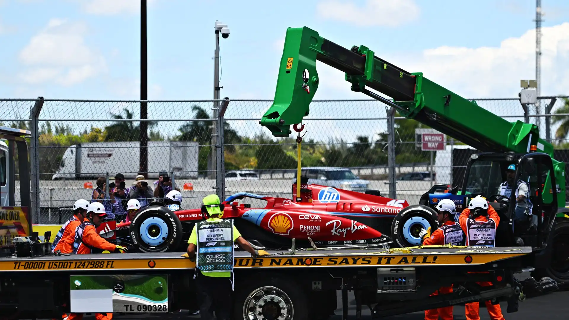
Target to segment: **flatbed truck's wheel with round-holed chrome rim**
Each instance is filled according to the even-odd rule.
[[[238,290],[233,318],[243,320],[307,320],[307,297],[289,279],[251,277]]]

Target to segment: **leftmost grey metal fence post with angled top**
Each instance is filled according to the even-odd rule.
[[[39,113],[42,111],[44,99],[38,97],[34,106],[30,110],[31,122],[31,153],[30,153],[30,169],[31,169],[31,212],[35,216],[35,221],[39,221]]]

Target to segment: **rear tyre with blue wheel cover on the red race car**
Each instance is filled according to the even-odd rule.
[[[400,247],[414,247],[423,243],[421,229],[439,227],[435,210],[422,204],[413,204],[399,211],[391,223],[391,237]]]

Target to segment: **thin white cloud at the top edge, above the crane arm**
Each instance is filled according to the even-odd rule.
[[[352,1],[324,0],[316,5],[321,18],[338,20],[358,27],[399,26],[419,17],[414,0],[366,0],[364,6]]]

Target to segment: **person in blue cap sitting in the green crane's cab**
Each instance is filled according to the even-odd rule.
[[[498,191],[500,195],[507,197],[512,196],[512,191],[516,189],[516,208],[514,209],[514,220],[524,221],[531,217],[531,209],[533,205],[528,198],[530,185],[522,179],[516,179],[516,165],[509,165],[506,170],[506,180],[500,184]],[[496,200],[494,200],[496,202]]]

